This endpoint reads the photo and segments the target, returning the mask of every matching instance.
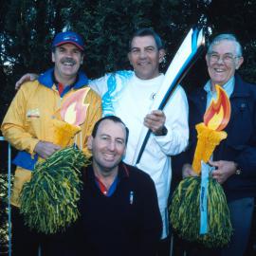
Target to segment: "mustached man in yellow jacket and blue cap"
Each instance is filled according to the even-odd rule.
[[[37,255],[39,243],[44,244],[39,234],[24,227],[18,210],[19,196],[24,183],[31,177],[37,159],[46,159],[61,148],[53,140],[54,119],[60,119],[61,101],[87,85],[85,74],[79,71],[83,50],[82,37],[77,33],[67,31],[57,34],[52,43],[54,68],[47,70],[38,80],[27,82],[19,90],[2,123],[4,137],[19,151],[14,160],[17,168],[11,195],[14,206],[12,255]],[[101,118],[101,98],[89,90],[83,103],[88,104],[86,118],[75,142],[86,152],[87,138],[94,123]],[[44,255],[44,246],[42,250]]]

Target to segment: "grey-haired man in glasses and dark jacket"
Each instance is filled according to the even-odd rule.
[[[195,124],[203,121],[210,101],[216,99],[215,85],[221,85],[229,96],[231,117],[225,129],[228,137],[216,147],[210,165],[215,167],[212,176],[227,195],[233,227],[229,247],[220,253],[225,256],[244,255],[256,195],[256,87],[235,74],[243,61],[242,47],[233,35],[220,34],[213,39],[206,55],[210,81],[189,95],[191,147],[174,159],[174,162],[192,162],[197,141]],[[183,167],[183,175],[193,174],[191,165]],[[205,253],[202,255],[210,252]],[[195,254],[200,255],[198,251]]]

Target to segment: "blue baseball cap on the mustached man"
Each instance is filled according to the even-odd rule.
[[[72,31],[65,31],[58,33],[52,42],[52,48],[56,46],[62,46],[64,44],[72,44],[74,46],[77,46],[82,51],[84,50],[84,42],[82,40],[82,37]]]

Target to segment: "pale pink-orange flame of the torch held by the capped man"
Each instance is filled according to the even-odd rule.
[[[84,104],[84,99],[90,88],[86,87],[71,93],[63,102],[61,117],[65,122],[73,125],[81,125],[86,117],[89,104]]]

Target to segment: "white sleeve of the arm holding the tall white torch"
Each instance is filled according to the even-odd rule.
[[[177,155],[184,151],[189,141],[189,105],[186,93],[181,86],[164,108],[166,115],[166,136],[155,136],[155,141],[165,155]]]

